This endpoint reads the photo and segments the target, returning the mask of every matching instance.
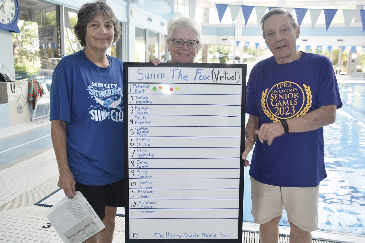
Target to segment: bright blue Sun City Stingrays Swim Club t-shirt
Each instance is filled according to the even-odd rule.
[[[68,164],[86,185],[124,178],[123,61],[108,59],[98,67],[81,50],[62,58],[52,77],[50,120],[67,123]]]

